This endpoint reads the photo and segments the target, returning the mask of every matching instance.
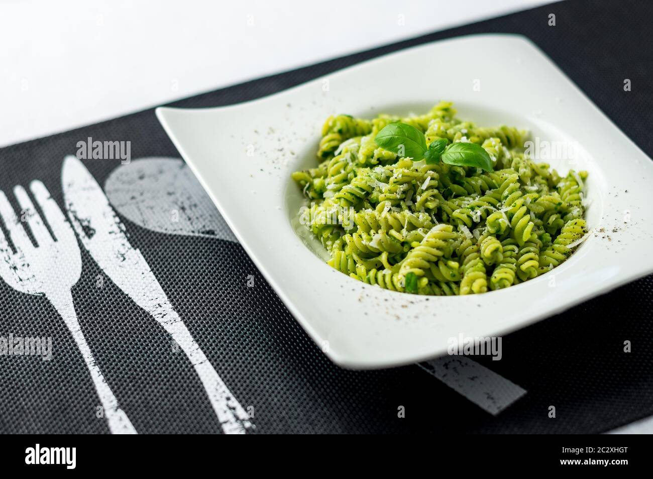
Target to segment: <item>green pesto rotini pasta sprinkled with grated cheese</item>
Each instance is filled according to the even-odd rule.
[[[587,233],[587,173],[561,177],[524,154],[526,131],[477,127],[455,114],[441,102],[419,116],[327,119],[319,165],[293,179],[311,203],[300,220],[329,265],[393,291],[465,295],[530,280],[571,255]],[[427,145],[478,144],[493,171],[384,150],[375,136],[392,122],[411,125]]]

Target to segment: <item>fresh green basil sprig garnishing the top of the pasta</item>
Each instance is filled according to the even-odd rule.
[[[452,143],[437,139],[426,148],[426,139],[419,129],[405,123],[391,123],[377,133],[374,141],[381,148],[415,161],[425,159],[432,165],[440,160],[448,165],[477,167],[492,171],[492,159],[485,149],[476,143]]]

